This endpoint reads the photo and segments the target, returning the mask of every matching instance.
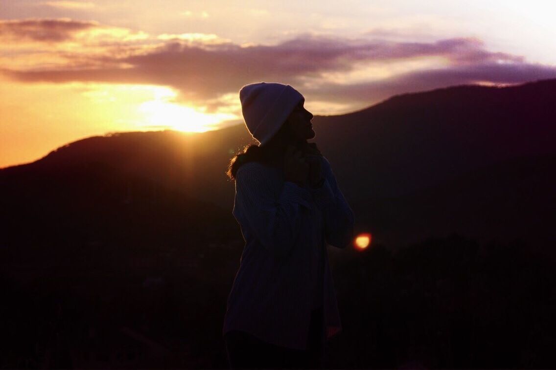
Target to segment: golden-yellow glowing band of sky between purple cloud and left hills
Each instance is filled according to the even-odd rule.
[[[207,101],[214,113],[176,101],[165,86],[19,83],[0,76],[0,168],[35,161],[52,149],[109,132],[203,132],[239,123],[236,94]],[[240,111],[241,114],[241,111]],[[233,122],[233,123],[231,123]]]

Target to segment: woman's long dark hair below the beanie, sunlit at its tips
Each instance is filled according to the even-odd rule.
[[[237,170],[242,164],[249,162],[259,162],[283,170],[284,154],[288,144],[300,146],[304,143],[292,142],[289,127],[284,123],[270,141],[263,146],[247,144],[242,151],[238,152],[234,158],[230,160],[228,170],[226,171],[227,176],[235,180]]]

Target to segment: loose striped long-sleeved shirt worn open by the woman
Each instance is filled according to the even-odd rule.
[[[257,162],[237,171],[232,214],[245,247],[222,335],[240,330],[304,350],[317,307],[324,308],[326,339],[341,331],[326,244],[345,248],[351,242],[354,215],[330,163],[319,158],[325,181],[317,189],[285,181],[282,171]]]

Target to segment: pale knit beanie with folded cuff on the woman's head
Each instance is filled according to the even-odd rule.
[[[290,85],[252,83],[240,90],[241,111],[251,136],[266,144],[304,97]]]

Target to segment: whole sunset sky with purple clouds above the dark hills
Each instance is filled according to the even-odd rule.
[[[254,82],[328,115],[556,78],[554,14],[552,0],[0,0],[0,167],[84,137],[242,123]]]

